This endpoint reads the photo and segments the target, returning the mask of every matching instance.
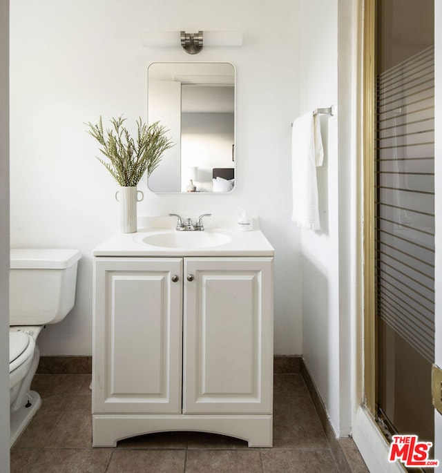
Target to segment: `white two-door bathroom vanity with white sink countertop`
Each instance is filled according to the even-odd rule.
[[[93,446],[197,430],[271,447],[273,248],[166,222],[93,251]]]

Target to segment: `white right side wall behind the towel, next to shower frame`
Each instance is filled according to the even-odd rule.
[[[352,1],[305,0],[300,17],[300,110],[334,105],[336,111],[320,118],[325,149],[324,164],[317,169],[321,230],[301,235],[302,354],[336,434],[344,436],[350,431],[351,392]]]

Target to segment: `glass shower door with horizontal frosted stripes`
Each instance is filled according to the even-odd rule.
[[[434,2],[378,0],[376,403],[434,442]]]

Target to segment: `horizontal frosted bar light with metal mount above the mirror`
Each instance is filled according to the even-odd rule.
[[[203,46],[242,46],[242,32],[238,31],[146,31],[141,37],[142,46],[170,48],[181,44],[189,54],[197,54]]]

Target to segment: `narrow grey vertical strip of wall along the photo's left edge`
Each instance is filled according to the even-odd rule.
[[[0,0],[0,471],[9,468],[9,1]],[[5,382],[6,381],[6,382]]]

